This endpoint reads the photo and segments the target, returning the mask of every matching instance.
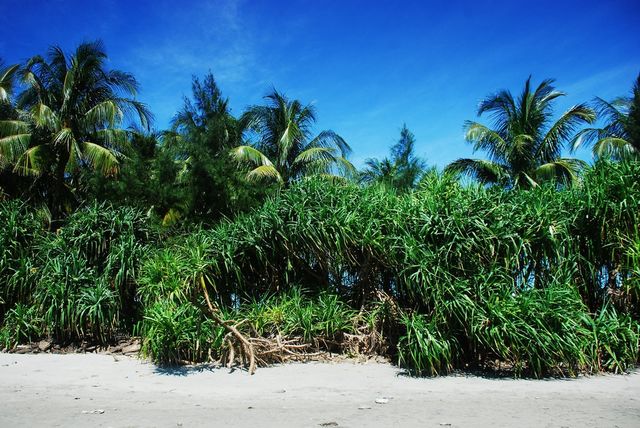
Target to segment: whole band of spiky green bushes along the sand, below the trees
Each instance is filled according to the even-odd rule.
[[[2,203],[0,337],[134,332],[157,362],[206,361],[225,334],[206,287],[246,334],[377,331],[416,374],[622,372],[638,361],[638,176],[600,162],[579,186],[502,190],[434,172],[403,194],[309,179],[157,248],[135,210],[91,205],[52,233]]]

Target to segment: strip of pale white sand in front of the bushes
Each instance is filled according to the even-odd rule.
[[[386,364],[311,363],[249,376],[118,360],[0,354],[0,427],[640,427],[638,371],[415,379]]]

